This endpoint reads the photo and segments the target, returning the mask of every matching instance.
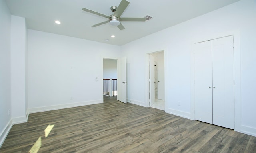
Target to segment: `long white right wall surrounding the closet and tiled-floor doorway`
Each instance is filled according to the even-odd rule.
[[[165,51],[166,102],[170,113],[189,118],[190,42],[216,33],[240,30],[241,131],[256,135],[256,1],[241,0],[122,46],[127,57],[127,98],[148,106],[145,81],[147,53]],[[135,56],[136,55],[136,56]],[[136,74],[136,75],[134,75]],[[137,94],[139,93],[139,94]],[[132,96],[133,95],[133,96]],[[177,102],[180,102],[178,106]]]

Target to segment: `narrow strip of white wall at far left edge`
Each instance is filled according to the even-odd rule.
[[[0,147],[10,129],[11,114],[11,14],[0,0]]]

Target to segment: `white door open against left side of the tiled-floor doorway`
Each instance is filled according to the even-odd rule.
[[[149,55],[149,105],[155,102],[155,58]]]

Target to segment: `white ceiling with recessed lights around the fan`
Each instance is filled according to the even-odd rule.
[[[94,24],[108,19],[82,11],[88,8],[110,15],[111,6],[121,0],[6,0],[12,15],[26,18],[28,29],[88,39],[113,45],[124,45],[151,33],[206,14],[239,0],[128,0],[121,17],[153,18],[146,22],[122,22],[126,28]],[[55,24],[59,20],[62,24]],[[115,38],[111,38],[115,35]],[[105,41],[109,39],[109,41]]]

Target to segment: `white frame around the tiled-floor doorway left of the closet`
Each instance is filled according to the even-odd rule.
[[[162,50],[158,50],[158,51],[154,51],[154,52],[150,52],[150,53],[146,53],[146,57],[145,57],[145,69],[146,69],[146,73],[145,73],[145,84],[146,84],[146,107],[150,107],[150,101],[149,101],[149,91],[150,91],[150,85],[149,85],[149,78],[150,78],[150,74],[149,74],[149,56],[150,54],[154,54],[154,53],[159,53],[159,52],[164,52],[164,111],[166,112],[166,108],[168,107],[168,88],[167,85],[168,84],[168,73],[167,73],[167,49],[162,49]]]

